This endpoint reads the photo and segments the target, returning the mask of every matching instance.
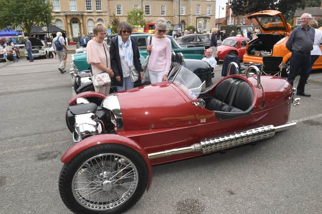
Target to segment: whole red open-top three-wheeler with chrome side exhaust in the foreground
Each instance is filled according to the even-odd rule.
[[[149,188],[152,165],[268,139],[295,126],[287,123],[290,83],[250,68],[256,77],[249,69],[208,90],[182,66],[169,81],[72,97],[66,123],[76,144],[61,157],[58,180],[64,204],[75,213],[122,213]]]

